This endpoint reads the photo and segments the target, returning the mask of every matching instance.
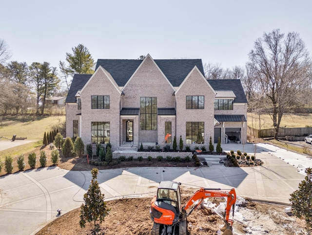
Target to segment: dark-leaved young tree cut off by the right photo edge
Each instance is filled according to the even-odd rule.
[[[299,183],[298,190],[291,194],[289,199],[292,204],[292,214],[299,219],[304,219],[307,224],[307,232],[312,230],[312,168],[305,170],[307,176]]]

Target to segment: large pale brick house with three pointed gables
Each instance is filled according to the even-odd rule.
[[[65,105],[66,135],[85,145],[246,143],[240,80],[207,80],[201,59],[98,59],[93,75],[74,76]]]

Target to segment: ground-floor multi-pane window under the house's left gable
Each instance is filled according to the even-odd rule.
[[[91,122],[91,141],[96,144],[109,143],[109,122]]]

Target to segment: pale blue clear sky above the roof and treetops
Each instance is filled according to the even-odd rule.
[[[98,59],[202,59],[245,66],[254,41],[297,32],[312,52],[311,0],[6,0],[9,61],[59,67],[78,44]],[[8,61],[8,62],[9,62]]]

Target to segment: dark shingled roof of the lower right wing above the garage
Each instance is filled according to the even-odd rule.
[[[215,91],[231,90],[236,98],[234,103],[247,103],[247,98],[240,79],[207,79]]]

